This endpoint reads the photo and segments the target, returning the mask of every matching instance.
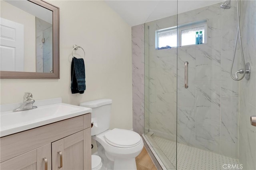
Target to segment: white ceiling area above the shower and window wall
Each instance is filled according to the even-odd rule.
[[[139,25],[223,0],[105,0],[129,25]],[[178,9],[178,10],[177,10]]]

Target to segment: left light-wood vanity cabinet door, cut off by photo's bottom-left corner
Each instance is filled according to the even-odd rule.
[[[50,170],[51,166],[51,144],[31,150],[0,164],[1,170]]]

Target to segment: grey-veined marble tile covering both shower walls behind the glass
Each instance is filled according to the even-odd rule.
[[[256,159],[256,130],[248,121],[249,115],[256,113],[256,8],[255,1],[242,2],[241,25],[247,25],[241,30],[243,48],[254,75],[249,81],[236,82],[229,73],[237,30],[235,1],[229,10],[214,4],[178,14],[178,25],[207,19],[208,42],[203,45],[155,50],[155,31],[175,26],[177,16],[145,24],[149,26],[145,29],[148,31],[145,33],[145,49],[148,48],[145,50],[148,60],[145,58],[145,94],[148,93],[145,127],[156,135],[175,140],[177,104],[179,143],[239,158],[248,169],[256,169],[253,161]],[[238,60],[233,70],[240,69],[240,57],[238,44]],[[185,61],[189,63],[188,89],[184,88]]]

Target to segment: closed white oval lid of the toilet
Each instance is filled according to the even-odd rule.
[[[142,139],[134,131],[115,128],[105,134],[105,140],[114,147],[130,148],[138,145]]]

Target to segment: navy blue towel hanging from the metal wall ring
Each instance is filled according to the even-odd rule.
[[[73,57],[71,63],[71,92],[83,94],[85,86],[84,59]]]

